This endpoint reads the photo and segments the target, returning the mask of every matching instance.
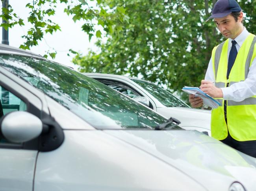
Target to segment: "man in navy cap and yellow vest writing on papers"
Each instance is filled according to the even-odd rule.
[[[235,0],[218,0],[207,20],[211,18],[227,38],[213,48],[200,85],[221,104],[211,113],[211,135],[256,157],[256,37],[243,27],[243,13]],[[189,95],[189,102],[192,107],[203,104],[194,95]]]

